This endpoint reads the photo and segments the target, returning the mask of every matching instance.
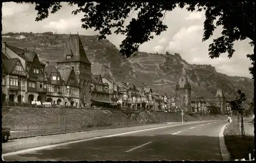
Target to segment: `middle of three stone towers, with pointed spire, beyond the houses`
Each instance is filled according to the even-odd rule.
[[[191,85],[187,80],[183,69],[179,82],[176,85],[176,106],[182,108],[184,112],[190,111]]]

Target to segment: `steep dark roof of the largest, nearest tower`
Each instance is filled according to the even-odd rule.
[[[62,60],[57,63],[63,62],[83,62],[92,65],[92,63],[87,58],[86,52],[83,49],[83,45],[78,34],[69,36],[68,43],[66,44],[63,51]]]

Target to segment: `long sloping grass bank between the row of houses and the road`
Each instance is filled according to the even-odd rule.
[[[11,128],[10,138],[28,137],[72,131],[120,128],[164,122],[181,122],[181,114],[140,112],[127,114],[120,111],[84,110],[78,108],[33,108],[3,106],[2,126]],[[187,121],[197,121],[184,115]],[[219,117],[216,117],[216,120]],[[209,120],[209,119],[207,119]]]

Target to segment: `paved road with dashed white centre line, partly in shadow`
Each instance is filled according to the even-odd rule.
[[[219,132],[225,124],[226,121],[202,122],[145,130],[46,149],[42,147],[3,158],[7,161],[222,160]]]

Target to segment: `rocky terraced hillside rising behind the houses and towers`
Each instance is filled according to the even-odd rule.
[[[22,35],[22,36],[21,36]],[[55,65],[69,37],[67,34],[8,33],[3,40],[8,44],[36,51],[42,62],[50,61]],[[105,78],[115,77],[122,82],[145,84],[160,93],[174,94],[175,85],[182,69],[185,69],[194,96],[212,99],[217,88],[223,89],[227,98],[231,98],[242,89],[247,99],[253,96],[253,81],[248,77],[227,76],[216,71],[211,65],[188,64],[177,53],[162,55],[138,52],[135,57],[125,59],[109,40],[97,40],[97,36],[80,35],[89,60],[92,62],[92,73]]]

